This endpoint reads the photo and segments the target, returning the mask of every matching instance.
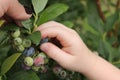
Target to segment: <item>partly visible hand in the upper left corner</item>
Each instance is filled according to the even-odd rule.
[[[0,17],[4,14],[15,20],[24,20],[31,16],[25,12],[18,0],[0,0]]]

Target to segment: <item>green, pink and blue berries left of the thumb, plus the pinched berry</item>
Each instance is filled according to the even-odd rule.
[[[13,48],[16,51],[21,52],[23,54],[23,63],[22,67],[25,70],[34,70],[45,72],[46,64],[48,63],[49,58],[45,55],[45,53],[39,51],[36,46],[34,46],[31,40],[23,37],[20,29],[15,30],[11,34]],[[47,42],[48,39],[42,39],[40,44]]]

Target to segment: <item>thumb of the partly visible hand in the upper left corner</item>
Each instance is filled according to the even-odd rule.
[[[15,20],[25,20],[31,16],[26,13],[25,8],[18,2],[18,0],[10,1],[6,14]]]

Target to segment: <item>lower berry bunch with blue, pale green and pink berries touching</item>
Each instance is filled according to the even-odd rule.
[[[35,53],[33,47],[25,49],[23,52],[25,55],[22,67],[26,70],[34,70],[40,72],[46,72],[46,64],[48,63],[48,57],[43,53]]]

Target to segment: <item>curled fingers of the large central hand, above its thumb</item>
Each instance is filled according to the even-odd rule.
[[[64,25],[59,24],[57,22],[50,21],[39,26],[38,30],[42,33],[42,38],[57,38],[60,41],[62,46],[68,47],[73,44],[74,37],[76,37],[76,33],[69,28],[66,28]],[[72,37],[72,38],[71,38]]]

